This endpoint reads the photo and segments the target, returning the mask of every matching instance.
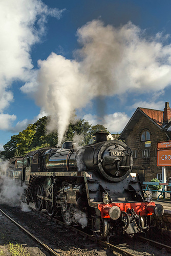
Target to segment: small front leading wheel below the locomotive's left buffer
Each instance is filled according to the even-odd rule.
[[[95,221],[96,218],[92,218],[92,229],[95,229]],[[100,232],[94,232],[93,234],[94,236],[98,239],[98,240],[104,240],[106,239],[106,237],[108,237],[108,233],[109,233],[109,223],[106,219],[100,219]]]

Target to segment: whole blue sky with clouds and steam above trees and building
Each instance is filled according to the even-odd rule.
[[[59,140],[73,112],[111,133],[138,106],[170,102],[170,1],[3,0],[0,150],[51,115]]]

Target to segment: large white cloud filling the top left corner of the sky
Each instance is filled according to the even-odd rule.
[[[48,16],[60,18],[63,10],[48,8],[40,0],[3,0],[0,2],[0,129],[8,130],[15,115],[3,114],[13,101],[14,80],[35,81],[31,47],[45,35]],[[1,119],[5,120],[4,123]]]

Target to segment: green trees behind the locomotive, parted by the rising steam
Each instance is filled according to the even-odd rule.
[[[34,124],[29,124],[25,130],[19,132],[18,135],[13,135],[11,140],[4,145],[4,151],[0,153],[0,157],[10,159],[12,157],[24,156],[32,150],[55,146],[58,144],[57,132],[47,133],[46,125],[48,117],[44,116],[37,120]],[[86,145],[89,143],[92,135],[97,131],[108,132],[101,124],[90,125],[84,119],[78,119],[74,123],[68,125],[68,129],[63,137],[64,141],[79,142],[77,146]]]

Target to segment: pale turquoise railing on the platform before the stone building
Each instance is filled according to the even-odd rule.
[[[160,196],[162,196],[162,197],[165,199],[165,196],[164,196],[164,193],[165,193],[165,192],[171,193],[171,191],[166,191],[166,190],[165,190],[165,186],[170,186],[170,187],[171,187],[171,183],[144,181],[144,182],[143,182],[143,185],[146,185],[146,188],[143,188],[143,191],[144,191],[144,193],[145,193],[146,196],[147,196],[146,191],[155,191],[155,192],[159,192],[159,193],[160,193],[159,196],[158,196],[158,198],[157,198],[157,200],[159,200],[159,197],[160,197]],[[162,186],[162,189],[161,189],[161,190],[151,189],[151,188],[148,187],[149,185]]]

